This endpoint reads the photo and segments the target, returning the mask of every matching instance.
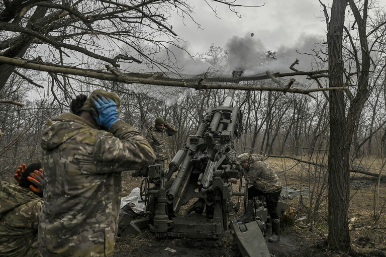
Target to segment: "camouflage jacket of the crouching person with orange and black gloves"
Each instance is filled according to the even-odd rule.
[[[0,182],[0,256],[39,256],[38,223],[43,198]]]

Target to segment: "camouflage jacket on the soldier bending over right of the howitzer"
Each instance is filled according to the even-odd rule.
[[[263,193],[281,190],[279,177],[277,177],[276,173],[260,154],[250,155],[249,165],[244,172],[244,178],[247,182],[253,183],[253,186]]]

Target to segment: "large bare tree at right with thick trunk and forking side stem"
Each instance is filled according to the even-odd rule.
[[[346,6],[349,4],[355,23],[359,46],[356,46],[352,36],[344,26]],[[349,204],[349,157],[350,147],[357,141],[357,129],[364,103],[369,96],[369,74],[371,69],[371,49],[368,38],[374,33],[366,33],[369,11],[367,0],[358,9],[353,0],[333,1],[331,20],[326,14],[327,41],[329,56],[329,87],[340,87],[346,84],[355,87],[354,93],[346,91],[349,106],[346,117],[346,106],[343,92],[330,92],[330,149],[329,149],[329,235],[331,248],[346,251],[350,247],[350,235],[347,226],[347,210]],[[381,23],[382,25],[384,23]],[[342,51],[343,30],[351,45],[350,58],[354,60],[355,72],[345,73]],[[375,39],[375,42],[379,38]],[[357,50],[359,49],[359,50]],[[355,83],[356,82],[356,83]]]

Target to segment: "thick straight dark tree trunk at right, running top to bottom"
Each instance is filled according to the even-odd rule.
[[[343,85],[342,35],[348,1],[334,0],[328,24],[329,87]],[[330,92],[330,147],[328,154],[328,245],[332,249],[350,248],[347,211],[349,206],[349,152],[346,148],[344,93]]]

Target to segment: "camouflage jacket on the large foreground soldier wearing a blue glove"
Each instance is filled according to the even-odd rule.
[[[112,256],[121,172],[153,163],[149,143],[123,121],[105,131],[64,113],[47,121],[41,146],[46,187],[40,254]]]

